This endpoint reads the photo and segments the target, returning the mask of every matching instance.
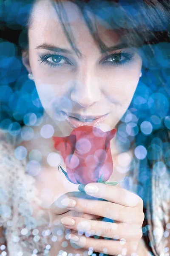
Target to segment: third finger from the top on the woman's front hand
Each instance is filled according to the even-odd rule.
[[[142,225],[111,223],[106,221],[87,220],[85,218],[62,218],[62,224],[66,228],[86,233],[87,236],[102,236],[105,238],[125,239],[125,241],[136,241],[142,238]]]

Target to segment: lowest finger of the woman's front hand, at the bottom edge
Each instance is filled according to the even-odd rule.
[[[113,241],[107,239],[94,239],[86,237],[84,235],[72,235],[70,234],[71,243],[77,244],[79,247],[88,250],[89,247],[93,248],[93,251],[98,253],[107,253],[109,255],[131,255],[135,253],[138,246],[138,241],[126,242],[125,240]],[[74,239],[74,241],[73,241]]]

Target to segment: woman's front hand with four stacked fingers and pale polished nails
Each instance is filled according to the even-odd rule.
[[[96,190],[98,189],[96,193],[88,193],[96,200],[70,197],[65,200],[67,208],[74,209],[76,212],[99,215],[117,223],[87,220],[84,216],[62,218],[62,224],[66,228],[74,230],[71,232],[71,239],[74,239],[74,243],[84,250],[92,247],[95,252],[114,256],[119,254],[131,255],[131,253],[136,252],[142,238],[142,223],[144,221],[142,199],[125,189],[102,183],[89,183],[85,186],[86,193],[88,186],[95,186]],[[98,198],[104,198],[107,201],[99,201]],[[68,204],[73,202],[73,199],[75,206],[70,208]],[[79,231],[76,236],[75,231]],[[80,232],[83,232],[82,235],[80,235]],[[91,235],[112,240],[94,239],[90,237]],[[117,241],[113,239],[117,239]]]

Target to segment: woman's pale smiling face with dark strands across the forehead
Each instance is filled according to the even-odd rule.
[[[101,53],[77,6],[63,3],[68,16],[65,27],[69,35],[73,33],[79,53],[71,47],[51,1],[41,0],[34,6],[28,30],[28,70],[34,76],[45,111],[63,136],[79,125],[111,130],[130,105],[142,59],[134,48],[119,46],[121,41],[116,32],[98,22],[99,37],[107,47],[112,47],[111,51]],[[80,119],[107,115],[105,119],[80,122],[64,113],[78,114]]]

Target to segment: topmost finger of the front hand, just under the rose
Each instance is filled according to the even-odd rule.
[[[135,207],[141,204],[143,208],[142,198],[118,186],[106,185],[104,183],[89,183],[85,186],[85,192],[93,197],[103,198],[126,207]]]

